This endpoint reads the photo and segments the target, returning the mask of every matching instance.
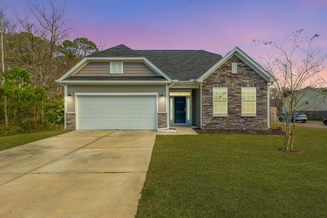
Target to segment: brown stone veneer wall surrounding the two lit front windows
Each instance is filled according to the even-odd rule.
[[[231,73],[231,63],[237,63],[237,73]],[[256,116],[242,117],[242,84],[255,84]],[[213,87],[228,88],[228,117],[213,116]],[[267,128],[267,81],[237,56],[232,56],[202,83],[203,129]]]

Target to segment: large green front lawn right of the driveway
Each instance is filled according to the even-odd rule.
[[[156,137],[136,217],[327,217],[327,130]],[[314,140],[313,140],[314,139]]]

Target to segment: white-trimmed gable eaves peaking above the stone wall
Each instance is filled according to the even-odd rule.
[[[203,74],[198,81],[203,82],[208,76],[210,76],[216,69],[218,69],[221,65],[223,65],[231,56],[236,55],[239,59],[241,59],[244,63],[250,66],[255,72],[257,72],[260,76],[262,76],[268,82],[274,82],[274,78],[258,63],[256,63],[252,58],[250,58],[247,54],[245,54],[239,47],[235,47],[231,50],[227,55],[225,55],[219,62],[217,62],[213,67]]]

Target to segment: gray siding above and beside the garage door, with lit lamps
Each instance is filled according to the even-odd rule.
[[[166,94],[160,98],[160,93],[166,93],[166,85],[67,85],[67,93],[72,93],[72,98],[67,98],[67,112],[75,112],[75,93],[144,93],[157,92],[158,112],[166,112]]]

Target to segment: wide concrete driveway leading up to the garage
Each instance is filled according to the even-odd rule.
[[[0,217],[134,217],[156,131],[82,131],[0,152]]]

